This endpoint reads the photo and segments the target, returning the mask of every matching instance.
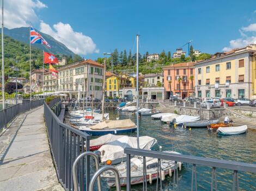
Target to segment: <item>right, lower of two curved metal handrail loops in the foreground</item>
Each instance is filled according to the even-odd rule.
[[[93,186],[97,178],[100,177],[101,173],[103,173],[106,170],[111,170],[115,174],[115,187],[117,188],[117,191],[121,191],[121,185],[120,185],[120,176],[117,168],[115,168],[112,165],[104,165],[99,170],[96,171],[96,173],[93,175],[92,180],[89,183],[89,191],[93,191]],[[98,180],[99,182],[99,180]]]

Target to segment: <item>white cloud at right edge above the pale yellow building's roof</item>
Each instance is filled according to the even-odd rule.
[[[230,40],[229,46],[222,49],[224,52],[228,52],[234,48],[245,47],[248,44],[256,44],[256,36],[253,35],[256,32],[256,23],[250,24],[247,27],[242,27],[239,31],[241,37],[235,40]]]

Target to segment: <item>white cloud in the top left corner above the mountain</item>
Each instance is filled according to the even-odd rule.
[[[35,9],[47,8],[39,0],[8,0],[4,1],[4,26],[12,29],[25,27],[29,22],[38,22]]]

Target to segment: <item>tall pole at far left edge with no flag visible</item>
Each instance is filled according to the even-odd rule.
[[[4,101],[4,1],[2,0],[2,98],[3,109],[5,109]]]

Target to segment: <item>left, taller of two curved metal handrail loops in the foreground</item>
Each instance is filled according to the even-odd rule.
[[[76,173],[76,165],[81,160],[81,158],[83,158],[84,156],[92,156],[94,158],[94,160],[95,160],[96,171],[99,170],[99,168],[100,168],[99,158],[97,157],[97,155],[94,152],[87,151],[87,152],[83,152],[81,155],[79,155],[76,158],[76,160],[74,161],[73,166],[72,166],[72,175],[73,175],[73,182],[74,182],[74,190],[75,191],[79,191],[78,180],[77,180],[77,173]],[[98,184],[98,190],[101,191],[100,176],[97,177],[97,184]]]

